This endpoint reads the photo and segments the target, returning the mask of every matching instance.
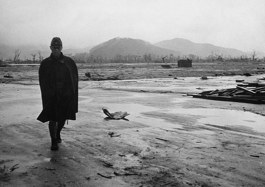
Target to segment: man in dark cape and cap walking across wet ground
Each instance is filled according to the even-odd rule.
[[[76,120],[78,112],[78,70],[70,57],[64,56],[60,38],[51,41],[51,55],[40,64],[39,82],[43,110],[37,120],[49,121],[51,150],[58,150],[60,132],[66,120]]]

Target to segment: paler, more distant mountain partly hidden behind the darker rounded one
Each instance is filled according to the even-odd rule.
[[[240,57],[241,55],[249,55],[249,53],[232,49],[214,46],[212,44],[194,43],[192,41],[174,38],[172,40],[164,40],[154,44],[158,47],[179,51],[183,55],[197,55],[201,57],[207,57],[209,55],[230,55],[232,57]]]

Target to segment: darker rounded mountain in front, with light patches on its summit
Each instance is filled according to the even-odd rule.
[[[107,59],[113,58],[116,55],[144,55],[144,54],[156,54],[156,55],[170,55],[176,54],[174,50],[164,49],[154,46],[153,44],[132,38],[113,38],[109,41],[103,42],[89,51],[89,55],[106,57]]]

